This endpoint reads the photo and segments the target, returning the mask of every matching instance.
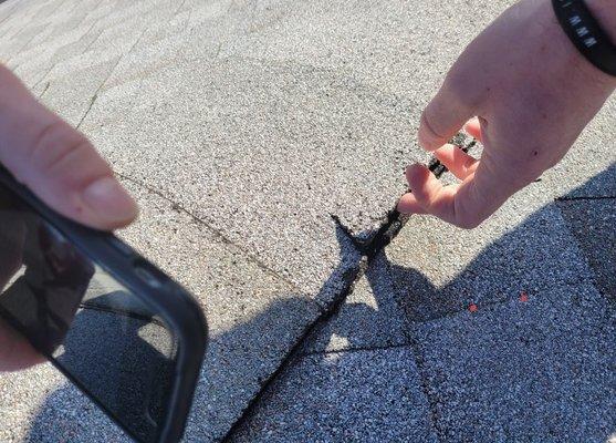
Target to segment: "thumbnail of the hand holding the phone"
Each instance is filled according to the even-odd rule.
[[[105,222],[122,224],[137,216],[135,200],[113,177],[94,182],[82,196],[84,203]]]

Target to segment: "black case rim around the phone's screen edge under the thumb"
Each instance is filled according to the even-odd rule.
[[[0,184],[22,198],[46,223],[73,243],[80,251],[139,297],[146,306],[156,309],[165,323],[171,329],[178,342],[176,373],[166,408],[164,425],[157,442],[174,443],[180,441],[192,404],[192,396],[208,341],[207,323],[201,308],[180,285],[171,280],[119,238],[111,233],[85,227],[55,213],[25,186],[19,184],[2,166],[0,166]],[[152,285],[153,281],[156,281],[156,285]],[[53,357],[49,354],[45,354],[45,357],[125,432],[133,439],[138,440],[113,412],[88,392],[86,385],[80,383],[69,371],[58,364]]]

